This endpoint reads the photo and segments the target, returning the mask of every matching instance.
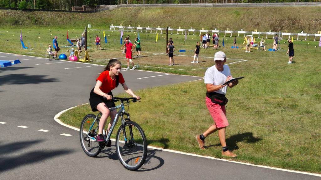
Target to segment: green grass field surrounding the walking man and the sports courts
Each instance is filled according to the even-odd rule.
[[[120,10],[103,13],[116,16],[121,14]],[[137,9],[127,8],[126,10],[134,12]],[[291,8],[283,10],[286,13],[294,12]],[[303,16],[305,17],[308,13],[313,14],[317,10],[319,10],[317,7],[313,10],[307,9]],[[153,17],[150,11],[148,8],[141,10],[141,16]],[[166,12],[166,10],[163,11]],[[193,8],[190,11],[190,14],[194,13]],[[221,14],[218,14],[216,18],[226,15],[227,19],[230,18],[230,21],[227,22],[234,20],[232,18],[234,15],[230,16],[230,13],[228,13],[232,11],[230,8],[225,9],[226,13],[223,13],[223,8],[220,11]],[[157,12],[156,14],[158,13],[163,12]],[[98,15],[97,13],[93,14],[92,17],[88,16],[86,18],[92,20],[91,18]],[[114,18],[112,20],[117,21],[114,16],[109,18]],[[147,24],[147,20],[140,21],[143,23],[139,24],[136,24],[135,21],[140,20],[141,16],[138,16],[138,19],[133,18],[128,21],[125,21],[124,17],[121,16],[118,19],[123,24],[128,23],[132,26],[140,24],[143,27],[143,23]],[[243,16],[242,13],[240,16]],[[63,17],[67,17],[67,15]],[[170,23],[180,18],[180,16],[174,16],[170,13],[164,13],[161,17],[162,19],[167,18]],[[5,19],[2,19],[2,21]],[[108,24],[108,20],[105,20],[106,24]],[[191,23],[191,27],[194,25],[192,21],[189,21],[189,18],[180,18],[180,20],[182,22],[185,21],[186,24]],[[236,21],[244,24],[244,19],[242,18],[235,19],[233,22]],[[58,22],[56,26],[52,26],[49,21],[46,22],[49,25],[35,23],[36,27],[29,28],[25,27],[25,25],[10,27],[10,25],[4,23],[8,26],[0,28],[0,52],[43,57],[48,44],[52,44],[54,35],[58,35],[58,42],[62,46],[67,45],[65,40],[67,30],[69,30],[70,38],[80,36],[83,31],[82,27],[58,28],[61,22]],[[156,25],[158,22],[148,20],[148,23]],[[237,23],[233,24],[235,28],[239,28]],[[303,21],[298,23],[303,23]],[[94,24],[93,29],[95,29],[95,22],[92,21],[92,24]],[[257,24],[260,25],[261,23],[257,22]],[[315,25],[316,23],[312,24]],[[163,21],[163,24],[160,25],[167,24]],[[312,29],[309,25],[311,24],[304,24],[300,28]],[[293,28],[298,28],[298,26]],[[315,28],[318,27],[313,27],[313,29]],[[33,50],[20,49],[20,29],[23,32],[25,45],[30,46]],[[248,25],[247,29],[253,29],[253,27]],[[89,30],[89,38],[91,39],[95,33],[100,33],[101,37],[102,33],[100,31]],[[104,50],[97,51],[93,44],[89,44],[92,63],[106,64],[109,58],[124,57],[120,51],[119,32],[106,31],[106,34],[109,37],[108,44],[102,43]],[[125,33],[124,35],[135,37],[135,33]],[[212,58],[200,58],[199,61],[202,62],[198,64],[190,63],[193,60],[190,55],[193,55],[198,36],[188,36],[184,45],[183,35],[172,35],[171,37],[177,50],[187,50],[186,53],[176,54],[187,56],[174,56],[176,63],[179,63],[179,65],[170,67],[174,69],[164,69],[168,68],[168,56],[157,53],[164,53],[165,37],[160,37],[159,35],[158,43],[155,43],[155,34],[140,34],[140,36],[142,51],[145,51],[142,55],[145,57],[139,60],[134,59],[134,62],[140,65],[140,69],[203,77],[206,67],[214,64]],[[229,65],[234,77],[246,77],[240,80],[238,86],[229,89],[227,93],[227,98],[229,99],[227,118],[230,126],[227,128],[226,138],[229,147],[234,149],[234,152],[238,155],[235,160],[321,173],[321,151],[319,149],[321,146],[321,129],[319,127],[321,117],[321,80],[319,74],[321,69],[321,49],[319,47],[315,48],[318,42],[294,41],[294,63],[286,64],[288,55],[285,53],[288,44],[284,43],[286,42],[285,40],[281,41],[282,49],[278,52],[253,50],[252,53],[245,53],[243,49],[231,49],[232,38],[224,37],[224,41],[226,47],[221,47],[220,50],[226,53],[227,58],[230,58],[227,63],[241,61],[235,59],[248,60]],[[237,41],[238,45],[242,47],[243,38],[238,38]],[[272,40],[266,40],[266,44],[270,48]],[[61,52],[65,52],[67,49],[62,48]],[[210,48],[201,49],[200,56],[213,57],[216,51]],[[125,63],[124,59],[120,59],[120,61]],[[217,133],[210,135],[206,139],[207,149],[204,151],[198,149],[195,141],[196,134],[204,132],[213,124],[213,120],[205,106],[205,92],[203,81],[140,90],[136,94],[142,97],[142,102],[131,104],[131,118],[143,127],[149,145],[221,158],[221,146]],[[126,96],[126,94],[120,94],[119,96]],[[61,116],[61,120],[74,127],[79,127],[80,121],[88,113],[91,113],[88,105],[80,106],[64,113]]]

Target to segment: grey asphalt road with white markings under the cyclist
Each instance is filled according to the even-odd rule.
[[[133,172],[120,164],[114,142],[99,157],[88,157],[80,146],[79,132],[61,126],[53,117],[62,110],[87,103],[89,92],[103,67],[0,53],[0,60],[15,59],[22,63],[0,68],[1,180],[321,179],[152,149],[148,151],[143,167]],[[122,73],[126,84],[133,90],[201,79],[140,70]],[[123,90],[117,88],[113,93],[119,92]]]

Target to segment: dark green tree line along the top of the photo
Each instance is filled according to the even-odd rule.
[[[188,4],[188,3],[287,3],[321,0],[0,0],[0,8],[71,10],[71,6],[116,4]]]

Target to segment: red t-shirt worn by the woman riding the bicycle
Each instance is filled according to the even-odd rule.
[[[118,77],[119,77],[120,84],[125,83],[125,79],[121,73],[119,73]],[[102,85],[100,86],[100,90],[106,94],[116,88],[116,79],[112,80],[110,78],[108,70],[100,73],[100,75],[96,79],[96,81],[98,81],[98,80],[100,80],[100,82],[102,82]]]

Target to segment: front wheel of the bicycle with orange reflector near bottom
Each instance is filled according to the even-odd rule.
[[[143,129],[137,123],[125,122],[125,131],[122,126],[119,127],[116,151],[119,161],[126,169],[135,171],[142,167],[147,156],[147,140]]]

